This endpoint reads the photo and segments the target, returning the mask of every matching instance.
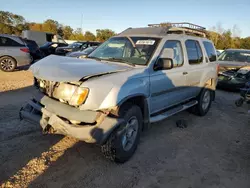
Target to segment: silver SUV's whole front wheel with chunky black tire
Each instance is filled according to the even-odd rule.
[[[101,150],[106,158],[124,163],[137,149],[143,118],[141,109],[131,104],[121,108],[119,114],[125,123],[111,134],[107,142],[101,146]]]

